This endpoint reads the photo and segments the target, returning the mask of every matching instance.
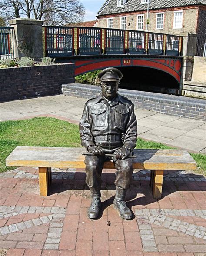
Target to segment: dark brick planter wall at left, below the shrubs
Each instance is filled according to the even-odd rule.
[[[74,65],[0,69],[0,81],[0,101],[58,94],[63,83],[74,83]]]

